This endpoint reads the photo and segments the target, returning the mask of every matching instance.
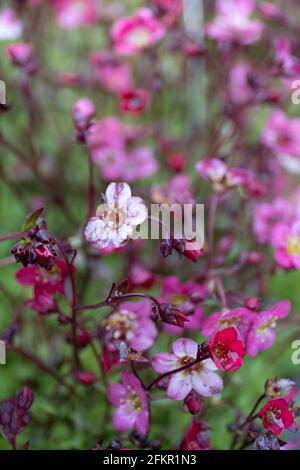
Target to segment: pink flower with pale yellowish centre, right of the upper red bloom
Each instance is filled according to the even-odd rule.
[[[274,305],[270,310],[256,314],[247,337],[247,353],[256,356],[258,352],[269,349],[276,339],[277,321],[286,318],[291,310],[288,300]]]

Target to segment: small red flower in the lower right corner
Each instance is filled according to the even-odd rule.
[[[284,398],[274,398],[268,401],[259,411],[259,418],[263,426],[275,436],[279,436],[284,429],[295,426],[295,418],[289,410],[289,404]]]

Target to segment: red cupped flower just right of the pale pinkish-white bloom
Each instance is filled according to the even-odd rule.
[[[235,328],[218,331],[210,340],[209,348],[212,358],[219,369],[233,371],[242,366],[245,347],[238,339]]]

